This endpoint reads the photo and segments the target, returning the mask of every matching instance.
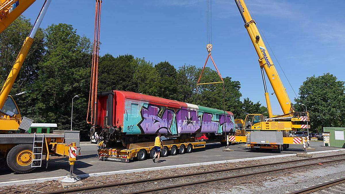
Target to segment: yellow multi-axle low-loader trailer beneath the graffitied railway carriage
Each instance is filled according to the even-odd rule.
[[[191,153],[194,149],[204,148],[206,142],[200,141],[181,141],[179,139],[164,140],[161,146],[161,157],[168,155]],[[126,148],[100,148],[98,149],[98,156],[100,160],[127,162],[137,159],[143,161],[145,159],[153,158],[156,151],[154,149],[154,142],[128,144]]]

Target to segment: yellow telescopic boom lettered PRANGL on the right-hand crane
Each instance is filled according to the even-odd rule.
[[[248,31],[249,37],[252,40],[252,43],[254,45],[255,51],[257,55],[259,56],[259,65],[261,68],[261,73],[263,76],[263,82],[264,82],[264,88],[265,88],[265,97],[266,97],[266,103],[267,103],[267,109],[269,117],[273,117],[271,105],[269,102],[269,97],[267,93],[267,87],[266,87],[266,81],[264,77],[264,70],[266,72],[266,75],[268,77],[268,80],[270,84],[272,85],[272,88],[274,90],[274,93],[278,99],[279,105],[283,110],[284,114],[293,113],[294,109],[291,105],[291,101],[289,99],[289,96],[286,93],[286,89],[283,86],[282,81],[279,78],[279,75],[277,73],[277,70],[273,64],[273,61],[271,57],[269,56],[269,53],[266,49],[265,43],[256,27],[255,21],[252,19],[252,17],[249,14],[249,11],[247,9],[247,6],[244,2],[244,0],[235,0],[237,4],[237,8],[239,12],[241,13],[241,16],[243,18],[243,21],[245,23],[245,28]]]

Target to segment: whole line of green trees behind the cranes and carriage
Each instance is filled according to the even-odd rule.
[[[21,48],[23,40],[31,30],[31,23],[23,16],[15,20],[11,26],[0,34],[0,80],[3,84],[13,62]],[[86,124],[87,100],[90,83],[92,43],[85,36],[80,36],[72,25],[65,23],[52,24],[46,29],[39,29],[33,45],[28,53],[18,78],[13,85],[11,95],[14,95],[21,115],[34,119],[36,123],[57,123],[59,130],[70,127],[72,97],[78,95],[73,103],[73,129],[80,130],[83,138],[88,138],[90,126]],[[174,64],[179,65],[179,64]],[[136,58],[130,54],[112,56],[106,54],[99,58],[98,91],[126,90],[137,93],[198,104],[217,109],[225,109],[234,113],[235,118],[244,118],[245,113],[261,113],[267,115],[267,108],[260,102],[242,98],[240,82],[224,77],[222,84],[202,85],[196,87],[201,67],[182,65],[175,68],[168,61],[157,64],[145,58]],[[295,99],[297,105],[305,104],[311,112],[312,126],[344,125],[345,95],[344,82],[337,81],[331,75],[327,77],[325,87],[338,87],[328,98],[315,100],[310,97],[311,88],[318,91],[322,83],[316,87],[315,79],[307,78],[300,88],[300,98]],[[217,72],[206,68],[201,83],[219,81]],[[329,83],[330,81],[330,83]],[[322,81],[320,81],[322,82]],[[324,86],[324,85],[322,85]],[[15,95],[28,91],[23,95]],[[313,92],[313,95],[323,93]],[[330,104],[320,104],[320,101]],[[309,103],[309,101],[311,101]],[[309,104],[308,104],[309,103]],[[332,104],[333,103],[333,104]],[[317,106],[315,105],[317,104]],[[336,108],[339,104],[342,108]],[[333,109],[319,110],[322,107]],[[298,106],[300,107],[300,106]],[[342,113],[340,113],[342,111]],[[324,116],[326,113],[331,115]],[[337,118],[337,122],[332,121]],[[330,121],[331,120],[331,121]]]

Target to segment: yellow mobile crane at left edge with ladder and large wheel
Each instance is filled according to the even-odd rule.
[[[36,0],[0,0],[0,33],[34,1]],[[33,120],[21,117],[16,102],[12,96],[9,96],[50,2],[51,0],[45,0],[0,93],[0,163],[5,163],[17,173],[27,173],[35,167],[41,167],[43,155],[46,155],[46,165],[48,165],[49,155],[69,156],[69,149],[79,146],[79,131],[68,130],[52,134],[25,133]],[[75,148],[75,150],[76,154],[79,154],[79,149]]]

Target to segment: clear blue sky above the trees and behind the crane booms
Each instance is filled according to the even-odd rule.
[[[34,21],[42,3],[37,0],[24,16]],[[297,95],[306,77],[330,72],[345,80],[345,1],[247,0],[246,4]],[[154,64],[166,60],[176,68],[203,66],[206,0],[103,0],[102,6],[101,55],[132,54]],[[78,34],[92,39],[94,12],[94,0],[53,0],[41,27],[69,23]],[[233,0],[212,1],[212,43],[221,75],[239,80],[243,97],[265,105],[258,57]],[[294,100],[274,57],[273,61]],[[276,97],[270,99],[274,114],[282,113]]]

